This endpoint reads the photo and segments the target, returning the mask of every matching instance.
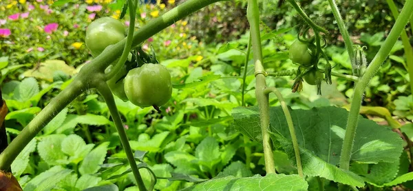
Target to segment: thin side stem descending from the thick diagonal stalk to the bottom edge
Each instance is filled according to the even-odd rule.
[[[136,183],[138,183],[139,190],[141,191],[147,190],[145,188],[145,184],[142,181],[142,177],[140,176],[138,166],[136,165],[134,153],[131,150],[131,145],[129,145],[129,140],[127,139],[125,128],[123,128],[123,123],[122,123],[122,119],[120,119],[118,108],[116,108],[114,95],[112,94],[111,90],[109,90],[109,86],[107,86],[107,84],[102,81],[104,80],[102,79],[100,82],[96,82],[96,83],[100,83],[97,89],[100,92],[100,94],[102,94],[103,99],[105,99],[107,108],[109,108],[109,112],[115,123],[116,130],[118,130],[120,143],[122,143],[123,150],[125,150],[127,160],[129,161],[131,170],[134,173],[134,177],[135,177]]]

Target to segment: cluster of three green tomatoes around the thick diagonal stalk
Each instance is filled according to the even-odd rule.
[[[125,38],[125,26],[111,17],[96,19],[86,30],[86,46],[94,57]],[[137,59],[137,62],[142,59]],[[144,59],[145,60],[145,59]],[[156,59],[154,59],[156,60]],[[111,72],[114,64],[106,68]],[[131,101],[142,108],[158,108],[169,101],[172,94],[171,74],[158,63],[144,63],[138,68],[124,66],[120,72],[107,81],[112,92],[123,101]],[[135,67],[136,67],[135,66]],[[128,71],[129,69],[129,71]]]

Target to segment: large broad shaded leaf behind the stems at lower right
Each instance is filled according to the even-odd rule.
[[[313,110],[290,110],[300,145],[304,173],[350,185],[363,185],[356,174],[336,167],[346,129],[348,111],[323,107]],[[270,109],[270,130],[273,141],[279,141],[291,161],[295,155],[290,132],[282,108]],[[233,110],[235,128],[251,139],[260,141],[260,117],[257,107]],[[378,149],[380,148],[380,149]],[[390,129],[359,117],[352,161],[379,163],[399,160],[402,140]]]

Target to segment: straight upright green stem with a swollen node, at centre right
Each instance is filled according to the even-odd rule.
[[[257,97],[258,108],[260,108],[262,146],[264,148],[265,170],[267,173],[275,173],[273,148],[271,145],[268,128],[270,126],[270,114],[268,105],[268,94],[264,94],[266,88],[265,70],[262,66],[262,50],[260,37],[260,11],[257,0],[248,0],[246,16],[250,23],[251,42],[253,45],[253,57],[255,63],[255,96]]]

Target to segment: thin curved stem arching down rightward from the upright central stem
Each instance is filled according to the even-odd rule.
[[[267,94],[267,95],[270,94],[271,92],[273,92],[275,96],[277,96],[277,99],[279,100],[279,103],[281,104],[282,111],[284,112],[284,115],[287,120],[288,130],[290,130],[291,141],[293,141],[295,161],[297,162],[297,171],[300,177],[304,177],[303,166],[301,165],[301,156],[299,155],[299,145],[298,145],[297,135],[295,134],[293,119],[291,118],[290,110],[288,110],[286,101],[284,101],[282,94],[277,90],[277,88],[269,87],[264,90],[264,94]]]

